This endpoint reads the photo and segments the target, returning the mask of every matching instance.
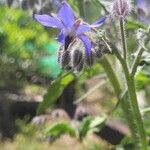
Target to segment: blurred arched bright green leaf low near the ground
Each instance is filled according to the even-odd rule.
[[[69,134],[70,136],[76,136],[76,131],[71,125],[67,122],[57,122],[47,127],[45,134],[47,136],[59,137],[62,134]]]

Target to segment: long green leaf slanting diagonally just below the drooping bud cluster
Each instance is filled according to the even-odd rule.
[[[56,102],[56,100],[61,96],[64,88],[74,79],[72,74],[62,75],[59,79],[54,81],[47,93],[44,95],[44,100],[40,103],[37,114],[43,113],[48,107]]]

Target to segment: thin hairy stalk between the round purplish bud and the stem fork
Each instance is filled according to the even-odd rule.
[[[121,39],[122,39],[122,46],[123,46],[123,56],[126,61],[127,59],[127,42],[125,38],[125,28],[124,28],[124,20],[120,18],[120,31],[121,31]]]

